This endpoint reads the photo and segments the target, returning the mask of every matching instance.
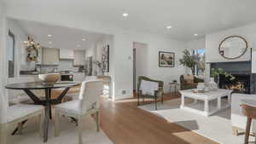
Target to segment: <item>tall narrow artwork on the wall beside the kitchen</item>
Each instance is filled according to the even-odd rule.
[[[109,72],[109,45],[102,49],[102,72]]]

